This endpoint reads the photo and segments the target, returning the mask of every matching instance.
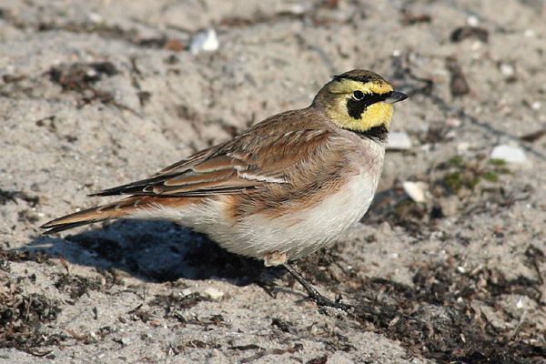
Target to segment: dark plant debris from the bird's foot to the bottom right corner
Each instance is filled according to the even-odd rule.
[[[529,249],[528,256],[540,259],[539,253]],[[330,264],[339,261],[329,250],[318,255],[324,263],[328,256],[332,257]],[[350,272],[333,274],[338,269],[328,264],[307,262],[299,267],[330,288],[347,288],[344,296],[358,302],[352,315],[362,329],[398,340],[415,355],[439,362],[541,362],[546,357],[546,340],[534,323],[525,322],[514,334],[513,329],[493,326],[483,312],[470,306],[470,302],[479,301],[498,311],[502,295],[518,294],[544,307],[541,282],[525,277],[507,279],[497,269],[482,267],[460,272],[454,265],[459,259],[418,267],[414,287],[385,278],[361,279]],[[507,322],[513,319],[509,312],[502,314]]]

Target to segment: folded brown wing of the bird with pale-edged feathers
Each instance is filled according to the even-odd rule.
[[[246,133],[181,160],[156,175],[108,188],[92,196],[194,197],[232,194],[267,184],[286,184],[287,171],[308,157],[329,136],[306,129],[279,135],[268,128]]]

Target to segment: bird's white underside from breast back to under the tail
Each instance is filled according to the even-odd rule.
[[[229,224],[224,217],[227,208],[222,198],[184,210],[147,208],[133,217],[167,219],[192,227],[239,255],[263,259],[266,253],[278,251],[286,252],[288,259],[296,259],[325,247],[357,222],[368,210],[378,180],[379,174],[351,177],[347,187],[324,198],[317,206],[274,219],[256,214]]]

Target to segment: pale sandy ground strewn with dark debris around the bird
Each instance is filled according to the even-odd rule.
[[[263,3],[0,1],[0,362],[546,362],[543,2]],[[218,49],[192,54],[207,28]],[[40,235],[352,68],[410,95],[413,147],[298,262],[349,313],[174,224]]]

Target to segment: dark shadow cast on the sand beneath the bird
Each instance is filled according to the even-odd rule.
[[[36,236],[25,247],[97,269],[120,269],[147,281],[222,279],[268,284],[281,269],[228,253],[206,236],[161,221],[117,220],[76,234]]]

